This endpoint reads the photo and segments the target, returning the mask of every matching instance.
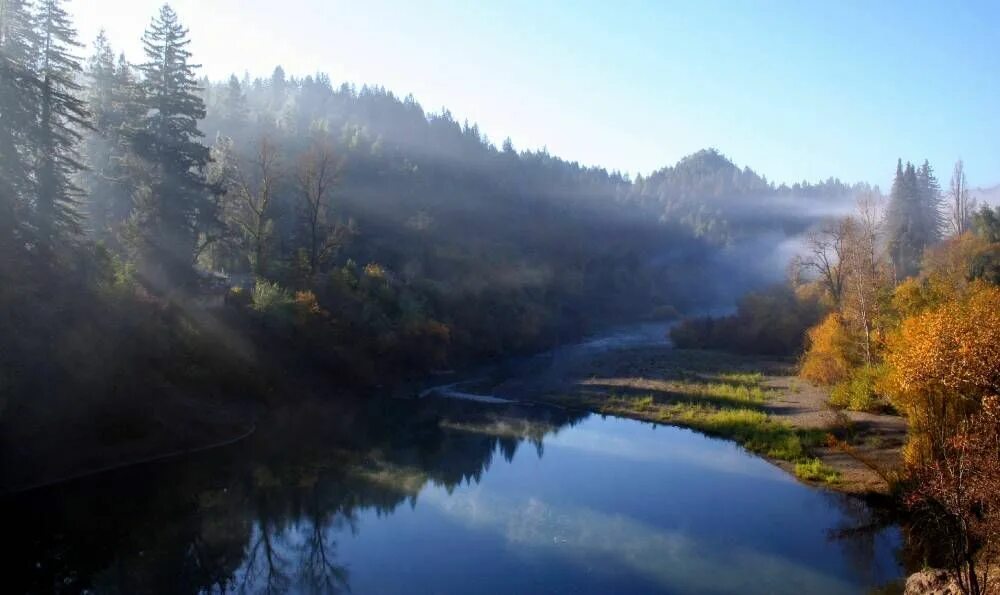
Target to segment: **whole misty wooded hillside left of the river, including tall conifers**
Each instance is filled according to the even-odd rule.
[[[727,246],[773,251],[854,190],[774,186],[715,151],[633,181],[379,87],[199,80],[168,6],[145,56],[102,36],[80,60],[60,4],[11,5],[0,39],[11,394],[200,390],[233,354],[370,384],[537,351],[725,305],[766,280]]]

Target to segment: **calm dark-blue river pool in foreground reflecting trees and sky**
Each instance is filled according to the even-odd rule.
[[[900,572],[866,507],[731,444],[517,404],[297,404],[4,509],[10,592],[838,593]]]

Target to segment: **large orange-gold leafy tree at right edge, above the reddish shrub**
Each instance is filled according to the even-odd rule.
[[[964,297],[905,318],[886,363],[883,390],[910,424],[907,462],[922,464],[984,396],[1000,393],[1000,287],[975,282]]]

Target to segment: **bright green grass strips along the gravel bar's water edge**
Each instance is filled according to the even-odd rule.
[[[812,456],[826,433],[799,429],[763,410],[771,392],[762,387],[759,372],[706,375],[671,385],[669,393],[580,396],[583,404],[601,413],[636,417],[684,426],[710,436],[733,440],[748,451],[795,464],[796,476],[833,483],[839,473]]]

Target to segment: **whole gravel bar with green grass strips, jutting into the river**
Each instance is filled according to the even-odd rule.
[[[555,357],[544,370],[458,388],[689,427],[852,494],[888,491],[906,437],[898,416],[830,408],[827,391],[796,378],[788,361],[666,344]]]

